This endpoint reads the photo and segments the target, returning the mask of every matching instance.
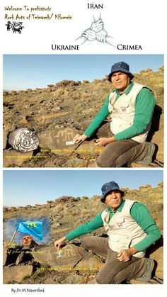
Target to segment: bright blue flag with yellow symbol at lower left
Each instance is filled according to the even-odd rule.
[[[35,236],[38,240],[42,240],[42,222],[40,221],[28,221],[28,222],[21,222],[18,224],[17,231],[26,233],[28,235]]]

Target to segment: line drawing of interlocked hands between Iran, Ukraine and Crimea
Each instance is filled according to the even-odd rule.
[[[85,43],[86,41],[97,40],[100,43],[108,43],[115,47],[115,45],[110,43],[112,36],[109,36],[108,33],[105,31],[103,20],[101,16],[99,16],[98,20],[96,21],[95,17],[93,16],[93,23],[91,27],[84,30],[84,33],[76,38],[76,40],[80,40],[81,44]]]

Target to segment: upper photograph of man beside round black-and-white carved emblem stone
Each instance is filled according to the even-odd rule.
[[[4,167],[163,167],[163,55],[4,55]]]

